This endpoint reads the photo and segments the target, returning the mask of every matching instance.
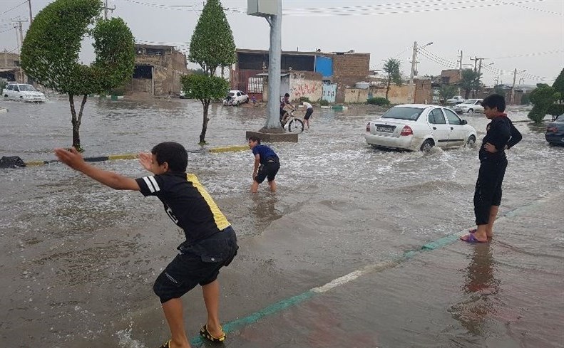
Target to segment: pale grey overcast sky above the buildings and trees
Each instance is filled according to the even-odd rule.
[[[31,0],[34,16],[52,0]],[[204,0],[108,0],[140,43],[188,51]],[[268,49],[269,26],[247,16],[247,0],[223,0],[237,48]],[[14,8],[15,7],[15,8]],[[284,51],[370,53],[370,68],[401,60],[409,75],[414,41],[432,42],[418,53],[419,75],[439,75],[482,60],[483,82],[553,83],[564,68],[564,0],[284,0]],[[26,0],[0,0],[0,51],[17,51],[14,19],[29,20]],[[24,32],[29,22],[24,23]],[[25,33],[24,33],[25,34]],[[93,58],[86,43],[85,63]],[[523,71],[526,70],[526,71]],[[541,80],[544,79],[544,80]]]

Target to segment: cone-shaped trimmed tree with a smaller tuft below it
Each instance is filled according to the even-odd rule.
[[[214,78],[215,72],[218,67],[229,66],[237,61],[233,33],[219,0],[206,1],[202,14],[200,14],[200,19],[198,19],[198,24],[190,39],[188,60],[198,63],[208,78],[207,82],[190,78],[193,75],[183,78],[183,90],[186,95],[198,95],[195,98],[202,102],[203,122],[200,144],[205,144],[207,122],[210,120],[207,117],[210,102],[213,99],[217,99],[217,95],[221,95],[221,97],[225,95],[229,89],[228,83],[226,88],[224,84],[218,83],[217,79]],[[212,88],[221,88],[221,90],[214,90]]]

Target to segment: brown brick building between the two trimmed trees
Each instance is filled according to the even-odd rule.
[[[172,46],[135,45],[135,70],[125,94],[178,95],[186,56]]]

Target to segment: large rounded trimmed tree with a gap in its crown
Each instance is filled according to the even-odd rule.
[[[56,0],[31,23],[21,48],[21,66],[37,83],[68,94],[73,147],[81,149],[80,127],[88,94],[116,88],[133,75],[133,35],[122,19],[100,19],[101,0]],[[78,63],[81,42],[93,38],[96,59]],[[74,96],[82,95],[76,113]]]

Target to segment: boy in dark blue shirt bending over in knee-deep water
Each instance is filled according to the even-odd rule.
[[[252,171],[251,192],[255,194],[259,189],[259,184],[268,178],[270,191],[276,191],[275,176],[280,169],[280,159],[276,152],[266,145],[260,144],[259,137],[249,138],[249,147],[255,155],[255,167]]]

